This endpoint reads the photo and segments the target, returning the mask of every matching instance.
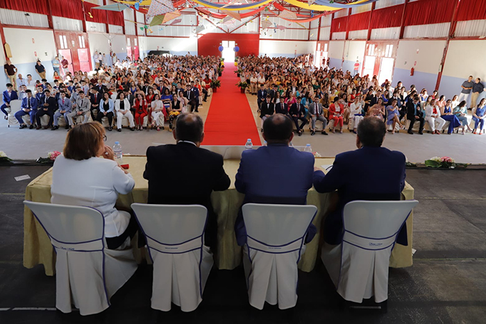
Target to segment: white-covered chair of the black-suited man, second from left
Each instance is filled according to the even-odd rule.
[[[171,302],[192,312],[203,300],[212,268],[204,246],[208,210],[201,205],[132,204],[153,262],[151,307],[164,312]]]

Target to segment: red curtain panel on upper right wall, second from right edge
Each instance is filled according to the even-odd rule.
[[[454,13],[454,3],[454,0],[409,2],[405,9],[405,26],[451,22]]]

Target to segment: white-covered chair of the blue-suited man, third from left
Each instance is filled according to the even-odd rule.
[[[317,207],[312,205],[245,204],[243,266],[250,305],[265,302],[279,309],[297,302],[297,264],[305,252],[304,239]]]

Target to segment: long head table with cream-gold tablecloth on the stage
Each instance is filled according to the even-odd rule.
[[[130,164],[130,173],[135,179],[135,188],[130,194],[119,195],[117,207],[129,208],[132,203],[146,203],[148,197],[149,183],[143,178],[146,157],[126,155],[124,162]],[[333,164],[333,158],[316,158],[316,167],[321,165]],[[219,269],[231,270],[236,268],[242,262],[242,248],[237,245],[234,225],[240,205],[243,202],[244,195],[235,189],[235,175],[237,173],[240,160],[224,160],[224,169],[231,178],[231,186],[226,191],[215,191],[211,195],[212,205],[217,214],[218,223],[218,248],[215,253],[215,264]],[[27,201],[39,203],[51,202],[51,183],[52,169],[44,172],[35,178],[26,189],[25,198]],[[76,185],[73,183],[72,185]],[[167,183],[167,185],[170,185]],[[317,206],[317,215],[314,224],[318,228],[317,235],[307,244],[305,254],[299,262],[299,268],[302,271],[310,272],[315,266],[317,259],[317,250],[321,240],[321,223],[328,212],[330,205],[336,201],[337,194],[319,194],[315,189],[308,192],[308,205]],[[414,198],[414,189],[405,183],[405,189],[402,191],[402,200]],[[396,244],[389,265],[394,268],[402,268],[412,265],[412,224],[413,213],[410,214],[407,221],[408,246]],[[135,250],[135,248],[134,248]],[[145,255],[143,251],[135,251],[141,258]],[[24,266],[33,268],[37,264],[43,264],[46,275],[54,275],[56,268],[56,254],[51,246],[51,241],[46,232],[37,222],[31,210],[27,207],[24,209]]]

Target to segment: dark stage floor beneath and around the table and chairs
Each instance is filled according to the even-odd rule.
[[[160,314],[150,308],[151,266],[141,265],[120,289],[112,306],[98,316],[81,317],[47,307],[56,302],[56,279],[42,266],[22,266],[24,191],[47,167],[0,167],[0,323],[485,323],[486,171],[408,170],[419,205],[414,210],[414,265],[389,271],[388,313],[340,308],[327,274],[299,273],[296,310],[248,306],[242,268],[213,269],[195,314],[176,307]],[[292,320],[292,321],[291,321]]]

